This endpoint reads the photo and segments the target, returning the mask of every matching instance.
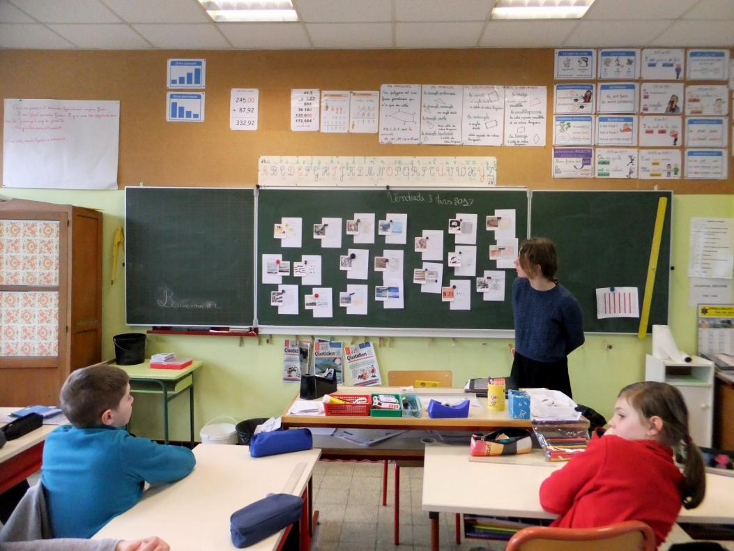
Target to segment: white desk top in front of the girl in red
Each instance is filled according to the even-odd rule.
[[[538,464],[516,455],[513,464],[469,461],[465,446],[427,445],[423,510],[553,519],[543,511],[538,490],[553,469],[565,463]],[[734,477],[706,474],[706,497],[695,509],[681,508],[677,522],[734,522]]]

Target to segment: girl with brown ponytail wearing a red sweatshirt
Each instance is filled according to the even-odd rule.
[[[680,511],[705,493],[700,450],[688,436],[688,409],[675,386],[646,381],[625,386],[606,433],[540,486],[540,504],[559,514],[551,526],[591,528],[641,520],[665,541]],[[603,434],[603,436],[601,436]],[[681,475],[673,450],[686,456]]]

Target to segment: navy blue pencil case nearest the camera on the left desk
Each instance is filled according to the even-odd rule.
[[[238,509],[230,516],[230,533],[234,547],[249,547],[298,522],[302,509],[303,500],[291,494],[269,494],[268,497]]]

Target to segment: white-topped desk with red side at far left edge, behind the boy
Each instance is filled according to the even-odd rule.
[[[21,408],[0,408],[0,417],[7,417]],[[1,423],[5,425],[5,423]],[[57,425],[41,425],[18,439],[5,442],[0,448],[0,494],[26,480],[41,468],[43,442]]]

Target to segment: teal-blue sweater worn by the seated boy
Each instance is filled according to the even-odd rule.
[[[191,450],[132,436],[123,428],[62,425],[43,446],[41,483],[56,538],[90,538],[140,499],[143,482],[192,472]]]

